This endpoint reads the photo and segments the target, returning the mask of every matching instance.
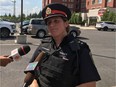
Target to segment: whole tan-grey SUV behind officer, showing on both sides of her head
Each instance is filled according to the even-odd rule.
[[[43,38],[49,33],[44,20],[41,18],[32,18],[27,32],[28,34],[36,35],[39,38]],[[69,33],[74,36],[79,36],[81,31],[79,27],[70,26]]]

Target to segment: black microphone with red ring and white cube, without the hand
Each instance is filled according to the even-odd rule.
[[[11,55],[8,56],[8,58],[11,58],[15,61],[18,61],[21,59],[21,56],[27,54],[30,51],[30,47],[28,45],[21,46],[20,48],[16,48],[11,51]]]

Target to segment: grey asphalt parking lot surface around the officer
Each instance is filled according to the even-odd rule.
[[[116,86],[116,32],[81,30],[79,38],[88,43],[93,54],[93,60],[100,73],[101,81],[97,82],[97,87]],[[20,47],[16,44],[14,36],[0,40],[0,55],[10,54],[10,51]],[[23,56],[20,61],[13,62],[7,67],[0,67],[0,87],[22,87],[25,74],[23,73],[29,60],[40,44],[40,39],[27,36],[27,44],[31,51]]]

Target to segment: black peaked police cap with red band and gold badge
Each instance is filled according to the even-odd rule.
[[[69,8],[59,3],[48,4],[42,10],[42,17],[44,20],[46,20],[54,16],[65,17],[69,20],[71,18],[71,11],[69,10]]]

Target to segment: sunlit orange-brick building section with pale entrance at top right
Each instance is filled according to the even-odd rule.
[[[86,0],[87,17],[90,19],[101,20],[101,16],[109,8],[116,12],[116,0]]]

